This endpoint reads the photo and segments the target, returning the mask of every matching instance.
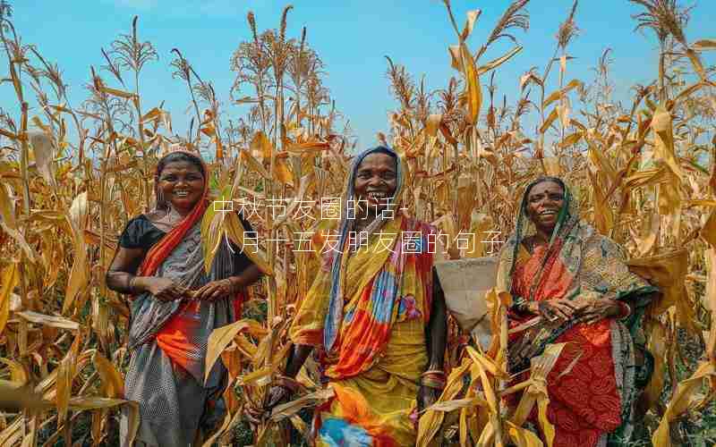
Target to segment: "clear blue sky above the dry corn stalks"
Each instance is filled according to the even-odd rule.
[[[13,22],[26,44],[34,44],[49,61],[60,64],[69,85],[73,105],[86,97],[83,86],[90,78],[90,65],[103,64],[100,47],[107,48],[120,33],[128,33],[132,16],[140,15],[142,40],[150,40],[159,55],[142,74],[143,107],[166,100],[175,131],[184,131],[191,114],[189,96],[180,80],[172,79],[170,50],[177,47],[204,79],[212,80],[219,97],[228,100],[234,80],[229,59],[238,44],[250,38],[246,13],[256,14],[260,30],[274,28],[285,2],[269,0],[14,0]],[[456,36],[439,0],[319,1],[294,0],[288,17],[288,35],[299,37],[308,27],[308,41],[326,64],[326,84],[337,107],[350,119],[359,147],[371,145],[377,131],[388,131],[387,113],[396,108],[388,94],[385,55],[404,64],[418,79],[423,74],[430,89],[447,85],[456,72],[450,68],[447,46]],[[507,0],[453,0],[460,26],[465,13],[482,8],[468,44],[482,44],[499,20]],[[524,50],[500,67],[496,83],[499,95],[514,102],[520,76],[530,67],[543,70],[555,47],[560,21],[567,16],[571,0],[532,0],[528,4],[530,30],[517,31]],[[695,2],[686,35],[691,41],[716,38],[716,2]],[[617,96],[626,97],[635,83],[652,80],[656,72],[656,39],[635,32],[630,15],[638,12],[626,0],[582,0],[576,13],[580,35],[570,46],[576,57],[567,78],[591,80],[590,69],[607,47],[612,48],[613,80]],[[711,26],[710,26],[711,25]],[[505,41],[492,48],[484,61],[506,52]],[[713,55],[713,53],[712,53]],[[482,62],[484,62],[482,61]],[[707,59],[713,62],[713,57]],[[0,74],[6,75],[6,63]],[[103,74],[106,80],[108,73]],[[555,78],[556,79],[556,78]],[[487,80],[483,80],[483,85]],[[0,86],[0,104],[13,109],[12,87]]]

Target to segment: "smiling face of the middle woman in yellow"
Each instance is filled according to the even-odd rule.
[[[376,215],[388,206],[388,199],[396,192],[396,159],[388,154],[366,156],[358,165],[354,178],[354,192],[359,203],[368,203],[368,210]]]

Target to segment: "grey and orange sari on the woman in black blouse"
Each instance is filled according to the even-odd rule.
[[[219,244],[209,272],[204,269],[201,219],[209,207],[208,171],[202,197],[189,215],[147,252],[140,276],[170,278],[190,290],[238,274],[234,249]],[[125,230],[126,232],[127,230]],[[124,233],[123,233],[124,236]],[[243,256],[243,255],[242,255]],[[205,382],[209,334],[241,316],[244,292],[214,301],[160,301],[149,292],[132,299],[124,399],[140,403],[138,444],[188,446],[200,428],[223,417],[226,369],[220,362]],[[128,444],[129,414],[124,410],[120,438]]]

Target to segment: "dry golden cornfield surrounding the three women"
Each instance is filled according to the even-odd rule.
[[[704,63],[703,53],[716,50],[716,40],[687,37],[690,11],[676,0],[630,1],[641,11],[635,27],[652,33],[660,48],[658,72],[650,84],[635,86],[630,103],[611,98],[609,51],[594,80],[570,80],[575,2],[558,24],[554,56],[541,72],[524,73],[520,97],[508,104],[499,99],[496,81],[500,65],[519,62],[523,46],[516,34],[528,29],[529,0],[510,4],[480,46],[468,43],[473,28],[488,26],[479,22],[480,11],[468,13],[460,27],[444,0],[445,26],[456,33],[456,44],[446,42],[455,44],[448,51],[456,76],[427,91],[388,59],[396,110],[389,135],[379,139],[408,161],[406,212],[436,224],[448,240],[507,237],[529,181],[542,174],[568,181],[582,215],[622,244],[630,266],[663,291],[644,321],[656,365],[639,403],[643,442],[711,445],[716,66]],[[243,415],[261,407],[286,364],[288,326],[325,242],[317,226],[320,198],[340,196],[354,145],[337,129],[339,112],[306,30],[286,36],[291,9],[286,6],[276,29],[262,31],[248,14],[252,38],[231,59],[235,82],[227,96],[247,105],[245,116],[226,114],[212,83],[179,49],[172,51],[175,81],[186,85],[192,107],[189,130],[179,136],[161,105],[141,99],[141,71],[157,53],[141,39],[137,17],[128,34],[101,49],[88,97],[73,105],[59,65],[21,41],[10,4],[0,2],[3,81],[12,84],[17,101],[0,108],[0,405],[7,409],[0,414],[0,445],[115,444],[123,407],[138,423],[136,403],[123,399],[128,302],[107,289],[105,273],[124,223],[152,205],[153,172],[172,145],[208,160],[213,197],[244,210],[259,234],[266,272],[251,289],[243,319],[209,340],[207,362],[223,362],[231,379],[226,419],[204,445],[238,443],[239,435],[254,445],[286,445],[289,437],[301,443],[303,409],[330,397],[311,367],[299,375],[298,399],[260,426]],[[485,60],[490,46],[503,40],[514,48]],[[558,89],[548,91],[555,78]],[[33,101],[38,107],[30,112]],[[531,113],[539,117],[536,126],[525,118]],[[214,231],[202,237],[209,246],[242,238],[223,213],[208,215],[205,223]],[[311,249],[298,249],[307,242]],[[454,259],[490,254],[484,243],[448,249]],[[499,334],[510,297],[494,291],[487,299]],[[495,335],[490,350],[473,349],[451,325],[451,372],[439,403],[420,419],[419,445],[542,445],[524,422],[534,406],[549,401],[541,381],[559,347],[545,352],[528,382],[510,388],[504,386],[504,348]],[[523,400],[508,414],[502,398],[521,390]],[[541,425],[549,434],[543,415]]]

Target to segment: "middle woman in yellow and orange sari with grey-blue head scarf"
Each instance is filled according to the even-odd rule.
[[[413,411],[436,401],[445,385],[447,323],[432,271],[434,228],[400,213],[406,175],[392,149],[355,157],[337,245],[324,249],[290,330],[286,376],[268,395],[267,409],[286,401],[293,377],[311,350],[320,350],[335,397],[315,412],[319,446],[414,445]]]

